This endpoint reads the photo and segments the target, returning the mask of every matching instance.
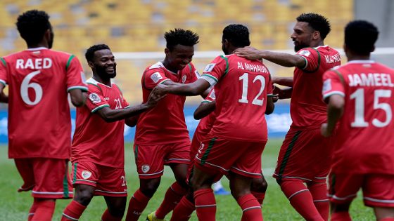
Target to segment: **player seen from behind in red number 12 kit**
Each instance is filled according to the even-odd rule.
[[[224,28],[222,49],[194,83],[160,86],[163,93],[198,95],[215,86],[217,117],[201,141],[191,184],[198,220],[215,220],[216,202],[211,185],[229,173],[231,194],[243,210],[243,220],[262,220],[261,206],[250,193],[253,178],[261,178],[261,154],[267,142],[265,110],[274,103],[269,71],[261,61],[232,54],[249,46],[249,31],[243,25]]]

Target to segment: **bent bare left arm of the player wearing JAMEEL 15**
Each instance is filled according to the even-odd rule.
[[[321,132],[324,137],[329,137],[333,133],[336,123],[343,115],[345,100],[341,95],[331,95],[327,107],[327,123],[322,124]]]

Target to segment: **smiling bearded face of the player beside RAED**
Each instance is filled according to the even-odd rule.
[[[115,57],[108,49],[95,51],[89,66],[101,79],[113,79],[116,76]]]

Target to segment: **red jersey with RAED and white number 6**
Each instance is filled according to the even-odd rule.
[[[0,83],[9,86],[8,156],[69,159],[68,91],[87,91],[80,61],[48,48],[0,59]]]

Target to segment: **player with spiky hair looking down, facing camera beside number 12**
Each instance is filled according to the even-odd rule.
[[[191,63],[198,35],[190,30],[174,29],[165,33],[165,59],[146,68],[142,75],[142,93],[146,102],[149,93],[159,84],[191,83],[198,72]],[[207,93],[208,94],[208,93]],[[176,182],[167,190],[158,210],[148,220],[164,219],[186,194],[186,174],[190,163],[190,138],[184,119],[185,96],[167,95],[158,105],[140,114],[136,124],[134,155],[140,186],[129,201],[126,220],[138,220],[148,201],[160,185],[164,165],[170,166]]]

